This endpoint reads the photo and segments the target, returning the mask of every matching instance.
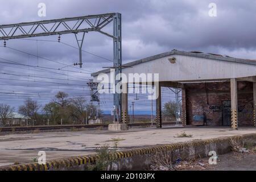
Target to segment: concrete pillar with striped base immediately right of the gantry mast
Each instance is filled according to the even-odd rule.
[[[122,85],[122,122],[123,123],[128,123],[128,93],[127,93],[127,84]]]

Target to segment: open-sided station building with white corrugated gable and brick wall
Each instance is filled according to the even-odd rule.
[[[100,73],[93,73],[94,81]],[[162,127],[161,88],[182,90],[183,126],[208,125],[255,127],[256,61],[203,52],[172,50],[123,65],[122,73],[158,73],[159,97],[156,102],[156,126]],[[130,83],[130,82],[128,82]],[[140,82],[139,84],[143,84]],[[127,114],[127,93],[122,93],[122,115]],[[122,117],[122,122],[127,117]]]

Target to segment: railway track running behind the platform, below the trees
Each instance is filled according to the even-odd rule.
[[[155,123],[153,123],[155,126]],[[163,122],[162,125],[175,125],[175,122]],[[34,130],[63,130],[63,129],[97,129],[108,128],[109,124],[97,124],[97,125],[53,125],[53,126],[17,126],[17,127],[2,127],[0,132],[11,131],[34,131]],[[129,127],[149,127],[151,123],[129,123]]]

